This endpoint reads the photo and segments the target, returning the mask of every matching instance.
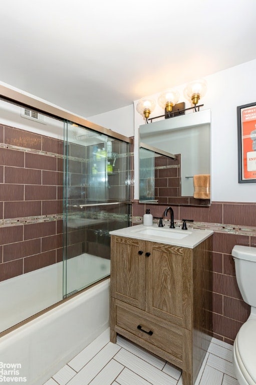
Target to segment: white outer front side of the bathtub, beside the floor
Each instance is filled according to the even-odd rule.
[[[9,377],[42,385],[109,327],[109,284],[96,284],[0,338],[0,375],[6,364],[4,370],[16,371]]]

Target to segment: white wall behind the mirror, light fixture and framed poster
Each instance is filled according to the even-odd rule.
[[[255,202],[256,183],[238,183],[236,107],[256,102],[256,60],[206,77],[208,91],[200,101],[203,109],[211,109],[211,181],[212,201]],[[168,85],[166,85],[168,87]],[[185,85],[177,87],[180,101]],[[157,100],[159,94],[152,95]],[[134,102],[134,140],[138,146],[138,127],[144,124]],[[189,107],[189,103],[186,104]],[[152,116],[162,114],[156,109]],[[135,181],[138,180],[138,156],[134,158]],[[135,199],[138,199],[138,183]]]

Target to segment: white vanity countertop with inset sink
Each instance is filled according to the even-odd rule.
[[[159,228],[157,225],[137,225],[113,230],[110,231],[109,234],[193,249],[199,245],[199,243],[210,237],[213,231],[190,228],[188,228],[188,230],[181,230],[180,227],[175,229],[170,229],[169,227]]]

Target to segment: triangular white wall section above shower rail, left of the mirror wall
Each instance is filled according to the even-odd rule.
[[[125,136],[134,135],[133,104],[118,108],[104,114],[89,116],[86,118],[92,123],[99,124]]]

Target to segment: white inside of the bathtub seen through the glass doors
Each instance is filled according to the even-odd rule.
[[[108,259],[90,254],[70,258],[67,260],[67,293],[87,287],[109,274]],[[0,282],[0,332],[62,299],[63,262]]]

